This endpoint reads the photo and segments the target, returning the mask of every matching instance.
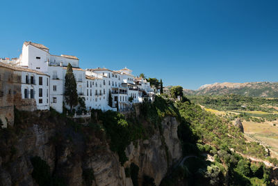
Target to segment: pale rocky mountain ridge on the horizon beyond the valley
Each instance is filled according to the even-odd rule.
[[[196,91],[184,89],[185,95],[238,94],[252,97],[278,98],[278,82],[205,84]]]

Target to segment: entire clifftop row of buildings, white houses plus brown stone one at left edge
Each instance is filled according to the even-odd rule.
[[[62,113],[65,103],[65,73],[72,65],[76,89],[85,100],[86,109],[126,111],[133,103],[153,100],[154,90],[146,79],[132,75],[132,70],[79,68],[76,56],[50,54],[49,48],[24,42],[19,58],[0,59],[0,123],[13,125],[13,109],[33,111],[50,107]],[[109,93],[112,105],[108,105]]]

